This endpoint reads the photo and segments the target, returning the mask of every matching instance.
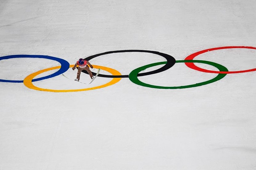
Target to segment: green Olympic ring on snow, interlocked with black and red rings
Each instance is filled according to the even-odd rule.
[[[228,69],[226,67],[224,67],[223,65],[213,63],[213,62],[209,62],[209,61],[203,61],[203,60],[178,60],[178,61],[176,61],[176,63],[204,63],[204,64],[212,65],[212,66],[216,67],[217,69],[219,69],[220,71],[228,71]],[[204,82],[201,82],[201,83],[196,83],[196,84],[193,84],[193,85],[183,85],[183,86],[174,86],[174,87],[150,85],[150,84],[143,83],[138,79],[137,75],[140,71],[145,70],[149,67],[153,67],[153,66],[161,65],[161,64],[166,64],[166,62],[152,63],[152,64],[148,64],[148,65],[144,65],[142,67],[139,67],[135,70],[132,70],[132,72],[129,74],[129,79],[137,85],[150,87],[150,88],[156,88],[156,89],[184,89],[184,88],[190,88],[190,87],[197,87],[197,86],[201,86],[201,85],[207,85],[207,84],[213,83],[215,81],[218,81],[218,80],[220,80],[221,78],[224,78],[227,75],[227,74],[218,74],[215,78],[213,78],[211,80],[208,80],[208,81],[204,81]]]

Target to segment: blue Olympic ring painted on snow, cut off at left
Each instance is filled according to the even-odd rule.
[[[49,76],[33,79],[32,82],[58,76],[58,75],[64,73],[65,71],[67,71],[69,69],[69,63],[66,60],[61,59],[61,58],[57,58],[57,57],[48,56],[48,55],[7,55],[7,56],[4,56],[4,57],[0,57],[0,60],[10,59],[10,58],[46,58],[46,59],[50,59],[50,60],[55,60],[55,61],[60,63],[60,65],[61,65],[60,70],[58,70],[57,72],[55,72],[55,73],[53,73]],[[3,80],[3,79],[0,79],[0,82],[23,83],[23,80]]]

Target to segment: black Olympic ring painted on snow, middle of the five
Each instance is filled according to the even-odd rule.
[[[158,51],[148,51],[148,50],[118,50],[118,51],[108,51],[108,52],[105,52],[105,53],[100,53],[100,54],[95,54],[95,55],[92,55],[92,56],[89,56],[89,57],[86,57],[84,58],[84,60],[91,60],[95,57],[98,57],[100,55],[106,55],[106,54],[112,54],[112,53],[124,53],[124,52],[144,52],[144,53],[153,53],[153,54],[156,54],[156,55],[161,55],[162,57],[164,57],[167,62],[166,64],[157,69],[157,70],[153,70],[153,71],[149,71],[149,72],[145,72],[145,73],[140,73],[138,74],[138,76],[146,76],[146,75],[150,75],[150,74],[156,74],[156,73],[159,73],[159,72],[162,72],[162,71],[165,71],[169,68],[171,68],[174,64],[175,64],[175,58],[173,58],[171,55],[168,55],[168,54],[164,54],[164,53],[160,53]],[[85,70],[82,70],[82,72],[87,73],[87,71]],[[96,73],[92,73],[93,75],[96,75]],[[104,74],[99,74],[98,77],[106,77],[106,78],[128,78],[129,75],[104,75]]]

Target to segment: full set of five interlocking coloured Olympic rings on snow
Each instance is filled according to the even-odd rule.
[[[34,90],[39,90],[39,91],[48,91],[48,92],[78,92],[78,91],[88,91],[88,90],[94,90],[94,89],[99,89],[99,88],[107,87],[109,85],[113,85],[113,84],[117,83],[118,81],[121,80],[121,78],[128,78],[129,77],[129,79],[133,83],[135,83],[137,85],[145,86],[145,87],[158,88],[158,89],[183,89],[183,88],[197,87],[197,86],[207,85],[209,83],[213,83],[215,81],[218,81],[218,80],[224,78],[227,74],[230,74],[230,73],[242,73],[242,72],[256,71],[256,68],[255,69],[250,69],[250,70],[228,71],[228,69],[226,67],[224,67],[224,66],[222,66],[220,64],[217,64],[217,63],[213,63],[213,62],[210,62],[210,61],[203,61],[203,60],[193,60],[197,55],[203,54],[205,52],[213,51],[213,50],[219,50],[219,49],[228,49],[228,48],[256,49],[255,47],[246,47],[246,46],[228,46],[228,47],[210,48],[210,49],[198,51],[198,52],[196,52],[194,54],[188,55],[185,58],[185,60],[178,60],[178,61],[176,61],[171,55],[160,53],[160,52],[157,52],[157,51],[148,51],[148,50],[108,51],[108,52],[105,52],[105,53],[100,53],[100,54],[89,56],[89,57],[85,58],[85,60],[89,61],[89,60],[91,60],[91,59],[93,59],[93,58],[95,58],[97,56],[105,55],[105,54],[112,54],[112,53],[145,52],[145,53],[152,53],[152,54],[163,56],[167,61],[158,62],[158,63],[152,63],[152,64],[148,64],[148,65],[139,67],[139,68],[137,68],[135,70],[132,70],[132,72],[129,75],[121,75],[121,73],[118,72],[117,70],[114,70],[114,69],[111,69],[111,68],[108,68],[108,67],[93,65],[94,68],[100,68],[101,70],[108,71],[109,73],[112,74],[112,75],[99,74],[98,75],[99,77],[106,77],[106,78],[113,78],[113,79],[110,82],[108,82],[108,83],[106,83],[104,85],[100,85],[100,86],[96,86],[96,87],[91,87],[91,88],[84,88],[84,89],[72,89],[72,90],[43,89],[43,88],[40,88],[40,87],[36,87],[32,83],[34,81],[44,80],[44,79],[47,79],[47,78],[52,78],[52,77],[58,76],[58,75],[64,73],[65,71],[67,71],[69,67],[73,67],[74,66],[74,65],[69,65],[69,63],[66,60],[60,59],[60,58],[57,58],[57,57],[47,56],[47,55],[9,55],[9,56],[0,57],[0,60],[10,59],[10,58],[26,58],[26,57],[27,58],[46,58],[46,59],[55,60],[55,61],[59,62],[61,64],[61,66],[52,67],[52,68],[48,68],[48,69],[37,71],[37,72],[32,73],[29,76],[27,76],[23,81],[22,80],[4,80],[4,79],[0,79],[0,82],[11,82],[11,83],[21,83],[21,82],[23,82],[24,85],[27,86],[28,88],[34,89]],[[164,70],[167,70],[167,69],[171,68],[175,63],[185,63],[191,69],[198,70],[198,71],[203,71],[203,72],[208,72],[208,73],[218,73],[218,75],[215,78],[212,78],[211,80],[208,80],[208,81],[205,81],[205,82],[196,83],[196,84],[192,84],[192,85],[173,86],[173,87],[150,85],[150,84],[143,83],[143,82],[141,82],[138,79],[139,76],[151,75],[151,74],[155,74],[155,73],[159,73],[159,72],[162,72]],[[219,69],[219,71],[205,70],[205,69],[197,67],[194,63],[209,64],[209,65],[212,65],[212,66],[216,67],[217,69]],[[149,67],[161,65],[161,64],[164,64],[164,66],[159,68],[159,69],[157,69],[157,70],[140,73],[140,71],[142,71],[142,70],[145,70],[145,69],[147,69]],[[59,70],[56,71],[55,73],[49,75],[49,76],[33,79],[37,75],[39,75],[41,73],[44,73],[44,72],[49,71],[49,70],[54,70],[54,69],[59,69]],[[95,75],[95,74],[96,73],[93,73],[93,75]]]

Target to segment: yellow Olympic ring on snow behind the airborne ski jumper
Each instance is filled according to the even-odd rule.
[[[98,66],[98,65],[92,65],[92,66],[96,69],[102,69],[102,70],[108,71],[112,75],[121,75],[121,73],[119,71],[108,68],[108,67],[103,67],[103,66]],[[24,83],[25,86],[27,86],[30,89],[45,91],[45,92],[80,92],[80,91],[94,90],[94,89],[99,89],[99,88],[107,87],[107,86],[110,86],[110,85],[114,85],[114,84],[116,84],[117,82],[119,82],[121,80],[121,78],[113,78],[110,82],[108,82],[107,84],[104,84],[104,85],[100,85],[100,86],[96,86],[96,87],[90,87],[90,88],[86,88],[86,89],[73,89],[73,90],[43,89],[43,88],[36,87],[35,85],[33,85],[32,79],[34,77],[36,77],[37,75],[39,75],[43,72],[46,72],[46,71],[50,71],[50,70],[54,70],[54,69],[60,69],[60,67],[61,66],[52,67],[52,68],[48,68],[48,69],[44,69],[44,70],[40,70],[40,71],[37,71],[35,73],[32,73],[24,79],[23,83]],[[69,65],[69,68],[70,67],[74,67],[74,65]]]

